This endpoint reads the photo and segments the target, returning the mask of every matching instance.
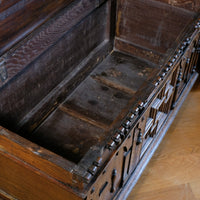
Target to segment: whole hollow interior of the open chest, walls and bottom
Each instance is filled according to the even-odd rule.
[[[99,3],[1,87],[1,125],[75,163],[110,138],[196,16],[153,0],[117,4]]]

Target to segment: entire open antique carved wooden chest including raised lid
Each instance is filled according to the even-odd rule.
[[[199,8],[0,1],[0,198],[125,199],[197,79]]]

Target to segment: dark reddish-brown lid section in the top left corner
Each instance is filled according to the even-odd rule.
[[[0,13],[0,54],[72,1],[3,1],[7,10]]]

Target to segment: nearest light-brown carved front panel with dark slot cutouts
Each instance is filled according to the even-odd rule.
[[[144,119],[139,120],[91,187],[89,200],[112,199],[135,169],[141,152]]]

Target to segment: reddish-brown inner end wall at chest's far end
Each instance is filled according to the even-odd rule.
[[[152,0],[121,0],[116,36],[160,54],[169,53],[194,16],[195,13]]]

